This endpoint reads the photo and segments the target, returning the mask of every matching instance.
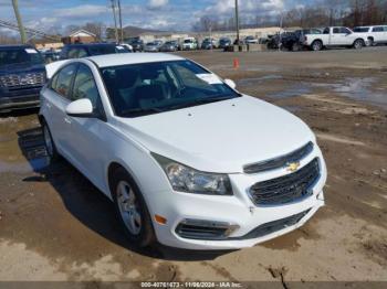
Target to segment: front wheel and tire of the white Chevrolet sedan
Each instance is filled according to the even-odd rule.
[[[112,195],[119,223],[137,248],[144,248],[156,242],[151,217],[143,194],[133,178],[123,168],[113,173]]]

